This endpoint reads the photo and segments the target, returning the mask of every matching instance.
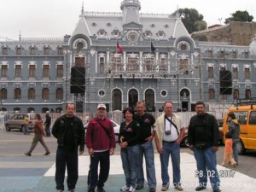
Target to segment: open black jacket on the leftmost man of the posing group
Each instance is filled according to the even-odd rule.
[[[58,146],[64,147],[64,136],[67,130],[67,116],[62,115],[55,120],[55,124],[52,127],[52,135],[57,138]],[[74,150],[84,151],[84,125],[81,119],[77,116],[73,116],[73,137],[75,142]]]

